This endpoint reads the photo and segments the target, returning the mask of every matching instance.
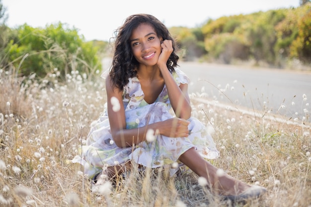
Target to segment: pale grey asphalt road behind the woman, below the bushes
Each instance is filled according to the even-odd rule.
[[[305,110],[311,114],[311,71],[193,62],[179,66],[191,79],[189,93],[257,112],[292,118],[303,118]]]

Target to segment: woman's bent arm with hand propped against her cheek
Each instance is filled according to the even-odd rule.
[[[178,86],[166,66],[166,62],[173,51],[172,42],[170,40],[164,40],[161,47],[162,52],[158,59],[157,66],[163,76],[170,103],[176,117],[187,120],[191,116],[188,84],[180,84]]]

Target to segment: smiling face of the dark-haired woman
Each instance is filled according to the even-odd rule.
[[[161,41],[150,24],[140,24],[133,30],[130,41],[135,59],[140,64],[155,66],[161,53]]]

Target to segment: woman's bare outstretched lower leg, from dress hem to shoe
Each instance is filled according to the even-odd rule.
[[[206,161],[195,150],[195,148],[190,148],[183,153],[179,157],[179,161],[188,166],[198,176],[204,177],[208,181],[211,190],[217,194],[235,196],[250,188],[246,183],[243,183],[226,173],[219,173],[218,176],[218,168]]]

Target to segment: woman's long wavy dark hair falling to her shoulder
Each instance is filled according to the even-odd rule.
[[[141,23],[151,25],[156,35],[163,40],[172,40],[173,52],[167,60],[167,68],[172,73],[175,71],[179,57],[176,55],[176,45],[174,39],[171,37],[166,26],[156,17],[150,14],[134,14],[125,20],[124,24],[116,31],[114,55],[112,66],[109,71],[112,87],[117,87],[123,90],[123,87],[129,82],[130,77],[137,75],[137,68],[139,63],[134,58],[130,43],[132,31],[136,29]]]

